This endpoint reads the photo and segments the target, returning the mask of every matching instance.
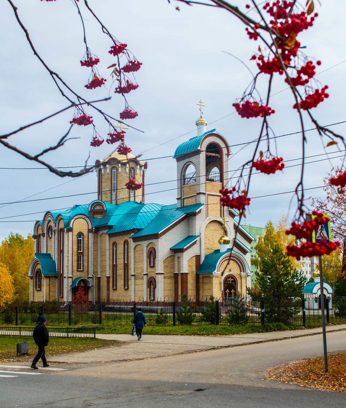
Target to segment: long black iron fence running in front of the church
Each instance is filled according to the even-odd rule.
[[[130,326],[139,307],[148,326],[249,323],[284,328],[321,324],[321,304],[317,297],[254,300],[228,296],[198,300],[183,297],[173,302],[126,301],[66,306],[45,302],[10,306],[0,313],[0,325],[34,326],[40,313],[45,316],[47,326]],[[327,323],[346,323],[346,297],[325,299],[325,317]]]

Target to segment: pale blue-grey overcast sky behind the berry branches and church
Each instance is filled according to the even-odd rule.
[[[120,95],[109,91],[112,81],[110,70],[106,69],[114,62],[114,57],[108,53],[112,44],[83,7],[83,2],[79,3],[88,44],[92,53],[100,58],[98,69],[107,78],[107,89],[87,90],[84,87],[89,69],[80,66],[85,49],[80,19],[73,2],[13,2],[33,44],[49,67],[88,100],[110,95],[110,101],[98,106],[118,118],[124,103]],[[142,132],[129,129],[126,143],[134,154],[142,153],[141,160],[148,161],[145,202],[176,202],[176,161],[172,157],[159,157],[174,155],[180,143],[196,136],[197,102],[200,99],[205,105],[203,117],[208,122],[207,131],[216,128],[232,146],[229,169],[236,170],[249,160],[253,144],[246,147],[237,145],[257,137],[261,120],[242,119],[234,113],[232,104],[241,97],[251,75],[230,54],[256,72],[250,57],[257,51],[258,43],[248,39],[241,22],[225,10],[197,4],[190,7],[175,1],[171,4],[166,0],[88,2],[109,31],[119,41],[128,44],[127,48],[143,63],[136,73],[139,88],[128,95],[129,104],[138,112],[138,117],[128,122]],[[247,2],[239,0],[233,3],[247,11]],[[320,124],[328,125],[346,120],[346,30],[339,18],[345,15],[346,3],[344,0],[322,0],[321,6],[316,3],[319,17],[312,28],[299,34],[299,41],[306,45],[308,56],[322,62],[316,69],[316,79],[321,86],[329,86],[330,97],[313,109],[313,114]],[[180,11],[175,9],[177,6]],[[0,133],[4,134],[63,109],[68,103],[33,55],[6,1],[0,5],[0,36]],[[259,84],[259,91],[262,97],[266,95],[264,81]],[[294,101],[283,76],[274,79],[271,95],[270,106],[275,109],[275,114],[270,116],[270,126],[274,134],[299,132],[298,116],[292,109]],[[106,138],[108,126],[96,112],[87,110],[87,113],[93,116],[99,133]],[[73,114],[70,109],[11,136],[10,142],[29,153],[38,153],[54,145],[66,133]],[[314,127],[306,116],[304,124],[306,129]],[[345,134],[345,128],[345,123],[331,127],[340,134]],[[78,139],[48,153],[46,160],[50,164],[56,167],[82,166],[90,154],[88,164],[92,165],[116,148],[116,145],[107,143],[91,147],[91,126],[74,126],[71,136]],[[343,153],[338,149],[342,150],[342,146],[330,146],[325,150],[323,146],[328,140],[321,142],[316,131],[308,131],[306,137],[306,156],[312,156],[306,161],[312,163],[306,164],[304,187],[320,187],[324,184],[326,172],[340,163],[339,156]],[[282,213],[288,214],[289,220],[294,216],[296,203],[293,200],[290,204],[292,193],[287,192],[294,190],[299,180],[301,135],[278,137],[276,143],[277,154],[286,161],[286,168],[278,172],[280,174],[253,176],[249,191],[252,201],[245,220],[247,225],[264,226],[269,219],[277,223]],[[274,144],[272,150],[275,152]],[[61,178],[3,146],[0,146],[0,157],[1,240],[11,232],[26,236],[32,232],[35,221],[42,220],[46,211],[88,203],[97,198],[96,173],[77,179]],[[328,157],[329,160],[325,160]],[[305,196],[309,205],[310,197],[324,197],[324,192],[322,188],[310,189]]]

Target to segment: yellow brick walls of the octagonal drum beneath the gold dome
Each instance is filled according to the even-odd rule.
[[[107,173],[107,169],[104,169],[104,173],[102,175],[102,200],[105,202],[112,202],[112,168],[117,168],[117,192],[116,192],[116,204],[121,204],[123,202],[129,201],[129,190],[125,187],[125,184],[129,181],[130,176],[130,167],[134,167],[134,178],[137,183],[142,182],[141,176],[141,168],[136,174],[136,162],[129,161],[129,169],[128,173],[126,173],[126,163],[121,165],[121,173],[119,174],[119,163],[114,163],[109,166],[109,174]],[[139,188],[134,192],[135,201],[140,202],[142,200],[142,187]]]

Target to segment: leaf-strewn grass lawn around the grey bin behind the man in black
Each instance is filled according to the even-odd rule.
[[[29,353],[25,356],[16,356],[17,343],[29,343]],[[89,339],[80,337],[51,337],[46,346],[47,357],[72,351],[84,351],[90,348],[115,346],[116,340]],[[37,353],[37,346],[32,337],[27,336],[0,336],[0,360],[1,359],[32,359]]]

